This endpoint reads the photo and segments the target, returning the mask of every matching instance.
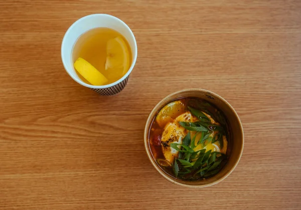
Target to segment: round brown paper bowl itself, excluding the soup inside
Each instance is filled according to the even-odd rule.
[[[227,139],[228,148],[229,148],[227,150],[228,161],[225,164],[225,166],[216,175],[205,180],[185,181],[171,176],[170,174],[166,173],[157,164],[156,160],[152,155],[152,152],[150,151],[148,133],[156,114],[166,104],[168,104],[172,100],[181,97],[198,97],[207,100],[208,102],[212,103],[216,108],[218,108],[225,115],[228,121],[229,129],[231,133],[230,139]],[[202,188],[202,187],[214,185],[222,181],[223,179],[225,179],[227,176],[229,176],[229,174],[234,170],[234,168],[238,164],[239,159],[242,155],[243,144],[244,144],[243,129],[239,117],[235,112],[235,110],[224,98],[222,98],[218,94],[215,94],[213,92],[204,89],[184,89],[166,96],[159,103],[157,103],[157,105],[153,108],[152,112],[150,112],[144,128],[144,146],[150,162],[164,178],[166,178],[172,183],[185,186],[185,187]]]

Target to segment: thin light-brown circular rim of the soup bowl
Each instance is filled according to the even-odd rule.
[[[178,93],[183,93],[183,92],[190,92],[190,91],[201,91],[201,92],[206,92],[206,93],[210,93],[212,94],[213,96],[221,99],[230,109],[231,111],[234,113],[235,117],[238,119],[238,123],[239,123],[239,128],[241,130],[241,134],[242,134],[242,147],[241,147],[241,150],[240,150],[240,153],[239,153],[239,157],[237,158],[235,164],[233,165],[233,167],[224,175],[222,176],[221,178],[211,182],[211,183],[208,183],[208,184],[203,184],[203,185],[191,185],[191,184],[184,184],[184,183],[181,183],[181,182],[178,182],[174,179],[172,179],[171,177],[169,177],[166,173],[162,172],[160,170],[160,166],[156,163],[155,159],[153,158],[153,155],[150,153],[150,149],[148,151],[148,148],[149,148],[149,144],[148,144],[148,128],[147,128],[147,123],[148,122],[152,122],[153,119],[150,119],[150,117],[155,113],[155,112],[158,112],[162,106],[162,102],[164,100],[166,100],[167,98],[175,95],[175,94],[178,94]],[[214,184],[217,184],[219,183],[220,181],[224,180],[225,178],[227,178],[231,173],[232,171],[236,168],[241,156],[242,156],[242,151],[243,151],[243,147],[244,147],[244,132],[243,132],[243,128],[242,128],[242,124],[241,124],[241,121],[236,113],[236,111],[234,110],[234,108],[231,106],[231,104],[226,100],[224,99],[222,96],[212,92],[212,91],[209,91],[209,90],[206,90],[206,89],[201,89],[201,88],[188,88],[188,89],[182,89],[182,90],[178,90],[176,92],[173,92],[167,96],[165,96],[163,99],[161,99],[155,106],[154,108],[152,109],[152,111],[150,111],[150,113],[148,114],[148,117],[146,119],[146,122],[145,122],[145,125],[144,125],[144,148],[145,148],[145,151],[146,151],[146,154],[147,154],[147,157],[150,161],[150,163],[152,163],[152,165],[155,167],[155,169],[165,178],[167,179],[168,181],[172,182],[173,184],[177,184],[177,185],[180,185],[180,186],[185,186],[185,187],[190,187],[190,188],[203,188],[203,187],[207,187],[207,186],[212,186]]]

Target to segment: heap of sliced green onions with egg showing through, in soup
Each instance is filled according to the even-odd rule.
[[[179,145],[185,148],[186,155],[175,159],[174,165],[177,164],[179,170],[174,175],[178,177],[179,174],[184,176],[189,174],[193,178],[214,175],[218,173],[222,167],[222,161],[226,159],[226,155],[221,153],[221,150],[227,147],[226,137],[223,135],[224,130],[208,114],[205,115],[192,108],[188,109],[200,121],[179,122],[183,128],[194,134],[191,135],[193,137],[189,146]],[[199,127],[201,129],[196,129]],[[222,151],[226,153],[225,149]],[[224,163],[225,161],[223,161]]]

